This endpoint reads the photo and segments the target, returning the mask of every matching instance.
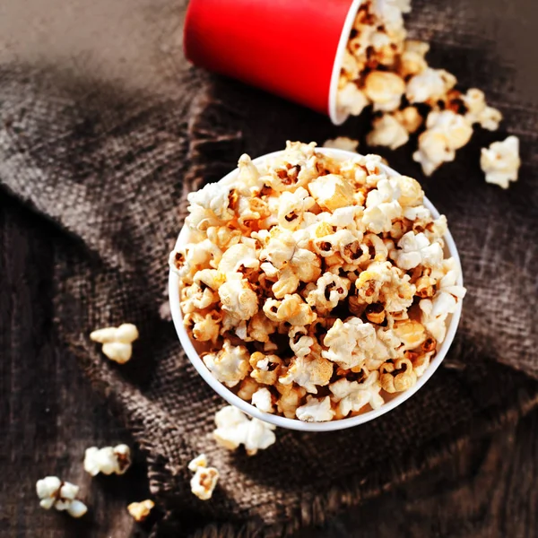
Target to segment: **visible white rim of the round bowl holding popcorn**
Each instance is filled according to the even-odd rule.
[[[344,152],[343,150],[334,150],[334,149],[325,149],[325,148],[319,148],[317,149],[318,152],[323,152],[326,155],[330,155],[334,159],[338,159],[341,161],[344,161],[346,159],[350,159],[351,157],[356,157],[357,153],[352,152]],[[268,153],[262,157],[258,157],[253,162],[255,164],[261,163],[267,158],[274,157],[282,152],[273,152]],[[386,173],[390,176],[397,176],[399,175],[395,170],[383,166],[383,168],[386,170]],[[238,169],[233,170],[221,179],[223,182],[230,182],[233,181],[238,175],[239,171]],[[425,197],[424,198],[424,205],[430,209],[430,212],[434,217],[438,217],[439,213],[437,209],[430,203],[430,201]],[[185,245],[188,242],[188,233],[189,230],[187,227],[183,227],[182,230],[179,233],[178,236],[178,242],[177,246]],[[452,239],[452,236],[450,235],[450,232],[447,231],[447,234],[444,237],[445,239],[445,253],[449,254],[449,256],[452,256],[456,260],[456,265],[460,269],[460,277],[458,279],[458,284],[463,285],[463,278],[461,276],[461,265],[459,256],[457,254],[456,244],[454,242],[454,239]],[[204,377],[204,380],[206,383],[208,383],[213,390],[218,394],[221,395],[222,398],[224,398],[229,404],[235,405],[236,407],[239,407],[239,409],[243,412],[246,412],[247,414],[256,417],[256,419],[260,419],[262,421],[271,422],[275,426],[279,426],[280,428],[287,428],[288,430],[301,430],[301,431],[331,431],[331,430],[343,430],[345,428],[352,428],[353,426],[358,426],[359,424],[363,424],[364,422],[371,421],[373,419],[377,419],[377,417],[380,417],[382,414],[385,414],[386,412],[391,411],[395,407],[397,407],[400,404],[403,404],[405,400],[408,398],[411,398],[412,395],[414,395],[418,390],[421,389],[422,386],[430,379],[430,377],[433,375],[436,369],[438,369],[439,364],[441,361],[445,358],[445,355],[447,354],[448,348],[450,347],[450,344],[454,340],[454,335],[456,334],[457,325],[459,322],[459,318],[461,316],[462,312],[462,302],[459,301],[456,311],[454,314],[449,316],[447,318],[447,335],[445,337],[445,340],[441,344],[440,348],[438,349],[438,352],[433,357],[433,360],[430,362],[430,366],[426,371],[422,374],[421,377],[417,380],[417,383],[412,386],[412,388],[406,390],[403,393],[398,393],[391,397],[390,400],[386,401],[385,404],[383,404],[378,409],[363,412],[360,415],[357,415],[355,417],[351,417],[348,419],[341,419],[339,421],[329,421],[329,422],[303,422],[299,421],[299,419],[287,419],[285,417],[281,417],[278,415],[274,415],[271,413],[261,412],[259,409],[257,409],[254,405],[248,404],[245,400],[242,400],[239,398],[238,395],[235,395],[227,386],[224,386],[221,384],[220,381],[218,381],[215,377],[213,377],[212,373],[207,369],[204,365],[204,361],[200,358],[200,355],[195,350],[195,346],[191,342],[191,339],[189,338],[187,334],[187,330],[185,329],[185,326],[183,325],[183,316],[181,313],[181,308],[179,306],[179,278],[178,274],[174,273],[173,271],[170,271],[169,273],[169,301],[170,301],[170,309],[172,313],[172,319],[174,320],[174,325],[176,326],[176,331],[178,332],[179,341],[183,345],[183,349],[187,353],[187,357],[189,360],[193,363],[196,370],[198,370],[198,373]]]

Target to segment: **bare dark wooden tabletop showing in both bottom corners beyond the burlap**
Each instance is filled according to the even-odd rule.
[[[0,536],[123,538],[146,534],[126,505],[148,496],[143,460],[123,477],[91,479],[84,449],[126,442],[66,360],[51,330],[54,224],[0,192]],[[533,537],[538,533],[538,412],[477,440],[436,472],[387,491],[301,538]],[[90,506],[75,521],[39,508],[47,474],[79,484]]]

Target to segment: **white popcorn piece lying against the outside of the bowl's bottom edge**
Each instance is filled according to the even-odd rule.
[[[248,456],[255,456],[258,450],[265,450],[276,440],[275,426],[257,419],[249,420],[237,407],[228,405],[215,414],[217,429],[213,437],[221,447],[235,450],[244,445]]]

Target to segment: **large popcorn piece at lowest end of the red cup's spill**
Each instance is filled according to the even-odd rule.
[[[452,110],[430,112],[426,131],[419,136],[419,149],[412,158],[430,176],[443,162],[454,161],[456,150],[471,139],[473,128]]]

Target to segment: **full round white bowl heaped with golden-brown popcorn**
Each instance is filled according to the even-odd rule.
[[[169,257],[187,357],[230,404],[292,430],[350,428],[423,386],[456,334],[456,245],[421,185],[315,143],[239,159],[188,195]]]

